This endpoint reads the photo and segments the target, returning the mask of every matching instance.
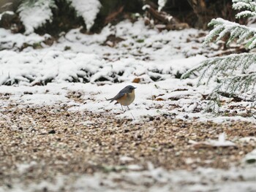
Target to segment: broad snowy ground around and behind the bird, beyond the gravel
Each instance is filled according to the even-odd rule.
[[[62,101],[69,106],[69,111],[107,112],[116,118],[135,120],[169,115],[176,119],[211,119],[220,123],[226,120],[254,121],[254,118],[239,116],[246,110],[238,110],[235,117],[214,117],[203,113],[207,103],[203,95],[211,93],[214,82],[209,86],[193,87],[196,79],[178,78],[206,59],[200,53],[211,53],[196,38],[203,31],[159,32],[146,28],[143,20],[135,23],[124,20],[116,26],[106,26],[101,34],[81,34],[79,29],[73,29],[48,47],[43,43],[47,35],[24,36],[0,30],[0,40],[7,39],[9,49],[0,52],[0,93],[10,93],[10,102],[18,102],[20,106],[45,106]],[[123,40],[108,47],[104,42],[109,35]],[[26,47],[17,52],[25,42],[31,45],[41,43],[43,48]],[[65,47],[70,49],[65,50]],[[134,80],[139,83],[132,82]],[[123,112],[119,105],[110,104],[105,98],[115,96],[126,85],[137,89],[130,110],[125,107]],[[82,94],[83,104],[68,97],[74,91]],[[234,105],[248,107],[244,101],[229,102],[230,105],[220,110],[225,111]]]

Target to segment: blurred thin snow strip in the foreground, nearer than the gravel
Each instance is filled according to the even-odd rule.
[[[132,165],[138,167],[138,165]],[[232,167],[227,170],[197,168],[191,172],[186,170],[167,171],[154,168],[148,163],[148,169],[97,172],[93,175],[57,175],[54,183],[42,180],[40,183],[23,185],[13,183],[12,188],[0,186],[0,192],[23,191],[256,191],[256,167],[246,165],[243,168]]]

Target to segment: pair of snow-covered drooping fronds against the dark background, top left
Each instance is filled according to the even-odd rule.
[[[89,31],[94,25],[97,13],[101,7],[99,0],[65,0],[75,8],[77,15],[82,16]],[[53,20],[52,9],[56,8],[54,0],[22,0],[18,7],[20,20],[26,29],[26,34],[31,34],[47,21]]]

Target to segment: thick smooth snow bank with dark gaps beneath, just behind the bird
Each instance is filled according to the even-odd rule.
[[[162,62],[157,66],[154,62],[148,63],[127,58],[107,64],[95,54],[77,54],[53,50],[40,53],[37,51],[16,53],[4,50],[1,51],[0,57],[3,62],[1,64],[0,84],[9,82],[12,84],[15,80],[18,80],[20,85],[35,85],[47,80],[71,82],[75,79],[78,82],[85,80],[96,82],[100,77],[105,77],[110,81],[117,77],[118,82],[132,81],[135,77],[144,77],[145,81],[152,82],[151,77],[154,77],[154,74],[165,80],[173,77],[178,72],[186,71],[189,66],[204,59],[202,56],[195,56],[186,59],[186,63],[184,59],[177,59],[172,62]],[[161,74],[154,73],[155,70],[160,71]],[[118,75],[120,72],[124,73],[121,77]],[[114,77],[111,77],[111,75],[114,75]]]

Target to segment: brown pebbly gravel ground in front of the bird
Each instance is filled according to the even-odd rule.
[[[223,132],[236,146],[190,142],[217,139]],[[15,183],[56,182],[58,175],[72,175],[72,183],[72,178],[84,174],[145,172],[148,164],[173,172],[230,169],[241,166],[244,155],[256,146],[255,140],[242,141],[256,134],[255,124],[245,121],[189,123],[159,116],[138,123],[108,114],[67,112],[59,105],[1,107],[0,133],[0,186],[6,190],[14,189]],[[39,191],[44,190],[48,191]]]

